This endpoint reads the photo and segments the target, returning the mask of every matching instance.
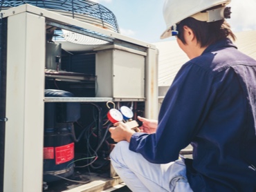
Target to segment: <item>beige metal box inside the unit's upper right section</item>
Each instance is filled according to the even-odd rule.
[[[145,55],[120,46],[98,48],[96,97],[145,98]]]

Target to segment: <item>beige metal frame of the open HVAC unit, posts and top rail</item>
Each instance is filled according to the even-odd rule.
[[[42,191],[44,102],[60,101],[58,98],[44,98],[46,21],[92,30],[131,48],[145,48],[145,113],[146,117],[157,119],[158,62],[155,46],[28,4],[2,10],[1,13],[3,17],[8,17],[8,122],[3,191]],[[111,100],[80,98],[68,102],[102,102],[104,99]]]

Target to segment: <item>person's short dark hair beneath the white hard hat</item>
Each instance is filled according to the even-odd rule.
[[[183,21],[177,25],[179,30],[178,38],[181,39],[183,44],[186,44],[183,35],[183,26],[188,26],[192,29],[198,43],[201,45],[201,48],[214,44],[221,39],[225,39],[226,37],[230,37],[233,41],[236,39],[234,33],[230,29],[230,25],[225,19],[214,22],[206,22],[188,17],[183,19]]]

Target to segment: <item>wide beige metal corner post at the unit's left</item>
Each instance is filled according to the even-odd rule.
[[[8,17],[7,47],[3,191],[42,191],[45,18]]]

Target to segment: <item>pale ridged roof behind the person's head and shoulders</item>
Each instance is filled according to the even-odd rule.
[[[256,59],[256,30],[237,32],[235,45],[246,55]],[[154,43],[159,50],[158,86],[170,86],[181,66],[188,61],[176,40]]]

